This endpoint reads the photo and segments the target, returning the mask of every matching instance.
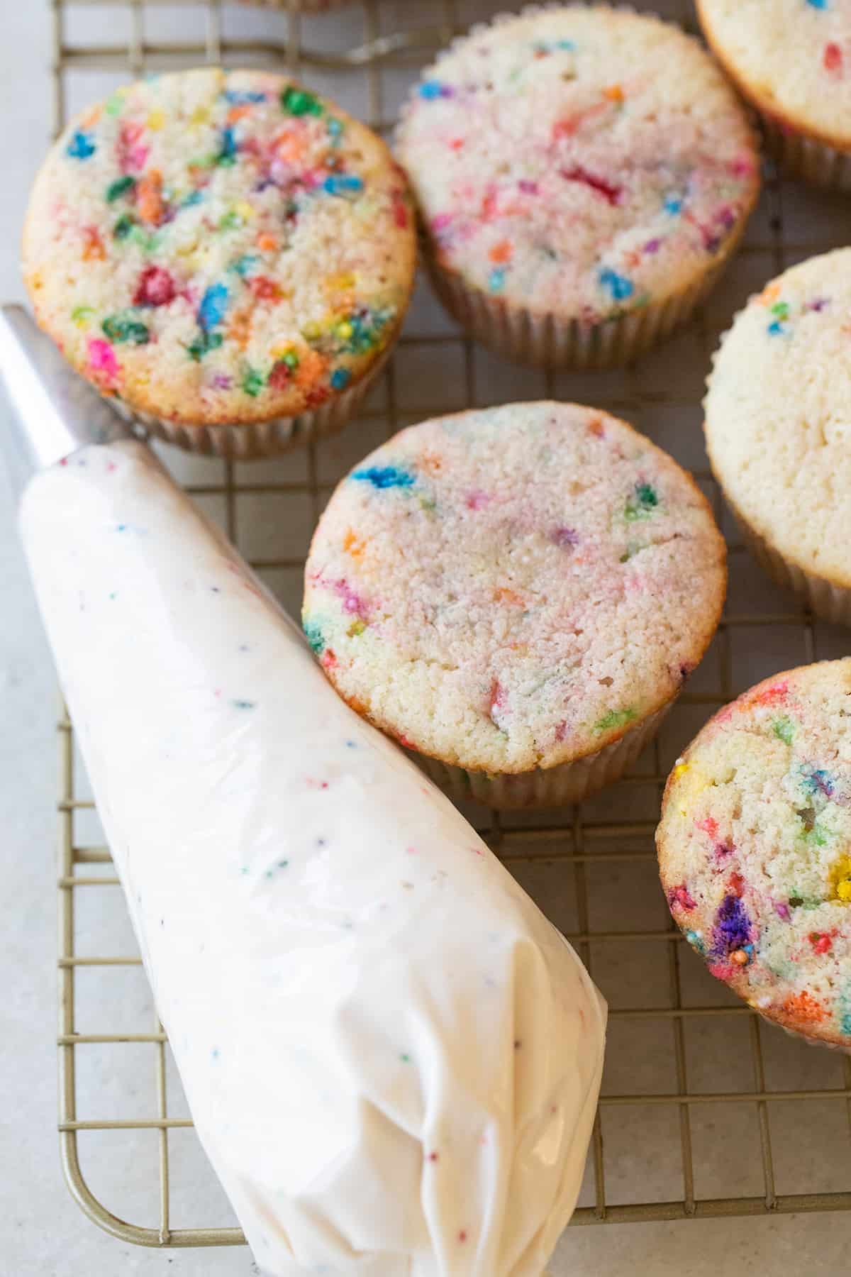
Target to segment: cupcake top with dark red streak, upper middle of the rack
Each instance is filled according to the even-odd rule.
[[[398,155],[440,266],[589,323],[699,278],[759,163],[735,94],[679,28],[607,8],[477,27],[425,73]]]

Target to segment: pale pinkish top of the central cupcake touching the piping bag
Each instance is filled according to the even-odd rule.
[[[521,773],[670,701],[725,584],[709,507],[671,457],[596,409],[514,404],[402,430],[339,484],[304,627],[403,744]]]

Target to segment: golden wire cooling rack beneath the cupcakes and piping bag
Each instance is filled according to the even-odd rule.
[[[286,66],[387,133],[418,65],[495,8],[365,0],[299,17],[221,0],[52,0],[55,124],[128,74],[208,60]],[[694,27],[689,0],[639,8]],[[383,383],[336,439],[253,465],[166,458],[291,610],[310,530],[336,480],[401,425],[444,411],[542,396],[609,409],[689,466],[726,524],[699,429],[711,352],[750,292],[794,261],[845,243],[845,225],[846,202],[768,174],[744,248],[703,313],[612,373],[513,368],[461,337],[421,290]],[[847,632],[801,613],[732,538],[718,637],[633,775],[575,810],[501,819],[467,811],[610,1004],[574,1225],[851,1208],[851,1060],[768,1028],[708,977],[670,921],[652,842],[666,773],[714,709],[778,669],[847,651]],[[191,1130],[64,716],[59,733],[59,1130],[70,1190],[125,1241],[240,1244]],[[131,1205],[121,1209],[125,1180]]]

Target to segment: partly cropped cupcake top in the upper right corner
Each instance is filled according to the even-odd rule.
[[[697,0],[700,26],[743,93],[781,123],[851,146],[846,0]]]

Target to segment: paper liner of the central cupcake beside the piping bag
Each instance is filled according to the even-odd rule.
[[[536,767],[533,771],[490,775],[486,771],[467,771],[441,762],[424,753],[408,751],[413,761],[454,802],[485,803],[500,811],[531,807],[569,807],[591,798],[600,789],[618,780],[633,765],[644,746],[658,732],[674,701],[648,715],[642,723],[605,744],[596,753],[574,762],[561,762],[555,767]]]

